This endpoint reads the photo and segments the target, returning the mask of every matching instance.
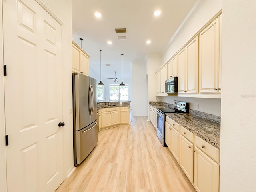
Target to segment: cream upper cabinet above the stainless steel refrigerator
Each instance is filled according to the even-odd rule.
[[[72,71],[89,75],[90,56],[72,41]]]

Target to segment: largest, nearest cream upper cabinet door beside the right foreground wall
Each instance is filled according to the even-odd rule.
[[[199,92],[220,90],[220,18],[199,34]]]

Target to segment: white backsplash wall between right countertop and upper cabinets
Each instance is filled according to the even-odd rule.
[[[177,96],[162,97],[162,101],[166,103],[173,104],[174,100],[189,102],[190,109],[220,116],[220,104],[221,104],[220,99],[191,98],[191,97],[177,97]],[[197,105],[199,105],[198,109],[197,109]]]

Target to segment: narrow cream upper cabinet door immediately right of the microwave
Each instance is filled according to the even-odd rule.
[[[186,92],[186,48],[178,52],[178,93]]]

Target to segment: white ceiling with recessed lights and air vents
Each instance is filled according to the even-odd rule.
[[[91,56],[90,71],[102,79],[122,76],[132,78],[131,62],[143,62],[148,54],[163,54],[172,36],[182,24],[196,0],[72,0],[72,33],[74,41]],[[161,9],[158,17],[154,10]],[[101,18],[94,12],[99,11]],[[115,28],[127,28],[117,34]],[[117,36],[126,36],[118,40]],[[111,40],[112,44],[107,44]],[[146,44],[151,40],[151,44]],[[110,64],[106,66],[105,64]],[[103,80],[102,80],[103,81]],[[119,82],[120,80],[118,80]]]

